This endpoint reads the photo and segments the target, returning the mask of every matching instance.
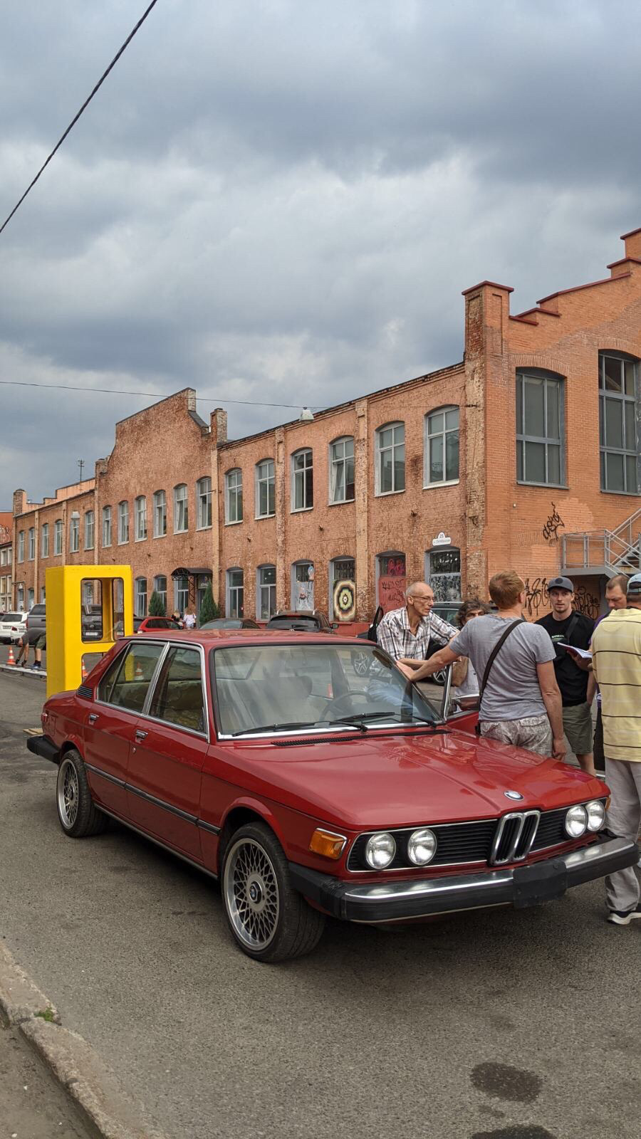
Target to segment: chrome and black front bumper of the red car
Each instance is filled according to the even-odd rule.
[[[401,921],[485,906],[537,906],[561,898],[570,886],[579,886],[633,866],[638,859],[636,843],[627,838],[605,838],[591,846],[529,866],[484,874],[358,884],[318,874],[293,862],[290,863],[290,874],[295,890],[334,917],[347,921],[376,923]]]

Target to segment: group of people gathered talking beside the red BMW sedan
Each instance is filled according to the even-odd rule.
[[[479,696],[479,734],[566,759],[567,745],[587,775],[610,790],[609,833],[635,841],[641,826],[641,574],[612,577],[608,614],[597,622],[579,613],[569,577],[549,582],[552,612],[524,617],[526,588],[506,570],[494,574],[489,596],[464,601],[455,628],[432,612],[427,582],[414,582],[406,604],[384,615],[378,641],[412,682],[453,665],[455,698]],[[429,655],[433,644],[443,646]],[[597,726],[592,704],[597,698]],[[608,920],[641,918],[636,869],[606,879]]]

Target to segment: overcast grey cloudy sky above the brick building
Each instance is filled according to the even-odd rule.
[[[147,0],[17,0],[0,223]],[[0,236],[0,509],[92,474],[185,386],[240,436],[455,363],[461,290],[512,311],[641,226],[641,8],[159,0]]]

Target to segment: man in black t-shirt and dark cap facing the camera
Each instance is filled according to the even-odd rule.
[[[547,582],[552,613],[536,623],[550,633],[557,650],[554,674],[563,702],[563,731],[584,771],[594,775],[592,754],[592,713],[587,703],[587,672],[579,669],[561,642],[589,648],[594,622],[573,609],[574,585],[569,577]]]

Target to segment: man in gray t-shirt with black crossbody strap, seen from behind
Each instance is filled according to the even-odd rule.
[[[494,575],[489,595],[497,614],[470,621],[446,648],[420,667],[414,661],[398,662],[409,680],[424,680],[459,656],[468,656],[482,679],[493,648],[505,629],[522,616],[525,584],[513,571],[505,571]],[[481,735],[562,760],[566,747],[561,694],[552,664],[555,655],[541,625],[524,622],[512,629],[494,658],[482,695]]]

